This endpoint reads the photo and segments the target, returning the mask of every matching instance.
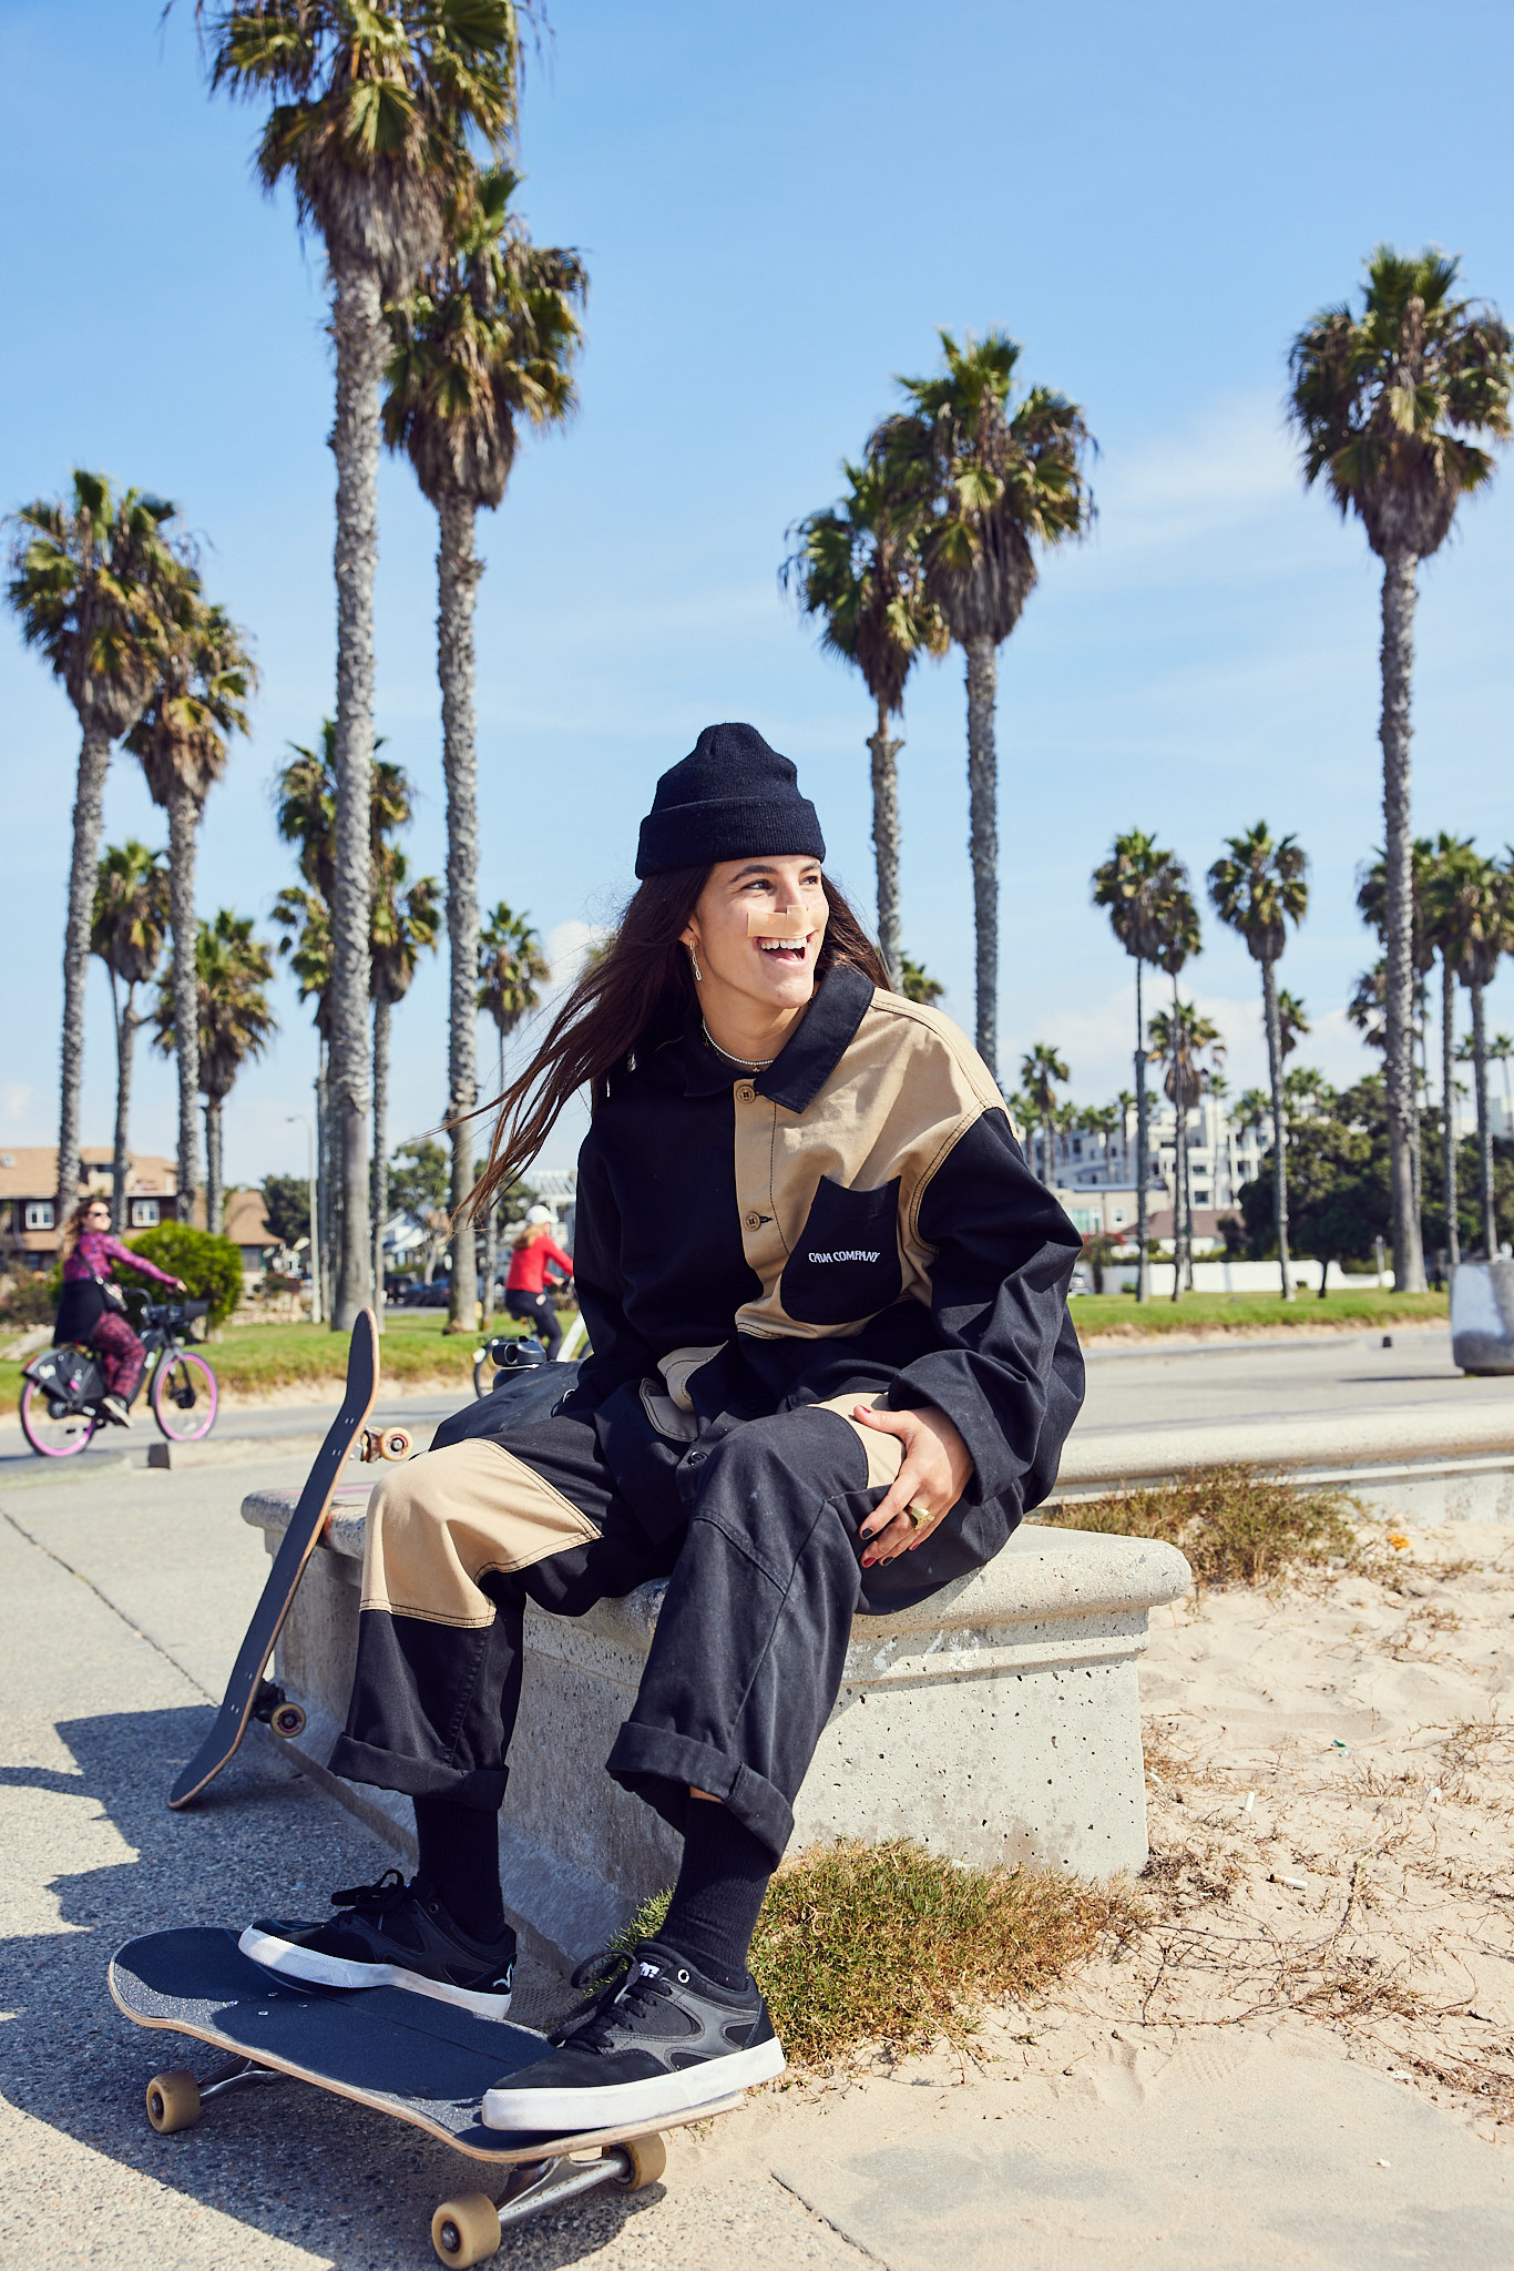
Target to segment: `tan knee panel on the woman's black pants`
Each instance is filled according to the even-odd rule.
[[[368,1501],[363,1608],[427,1624],[483,1626],[479,1578],[529,1569],[599,1531],[572,1499],[497,1442],[472,1438],[406,1460]]]

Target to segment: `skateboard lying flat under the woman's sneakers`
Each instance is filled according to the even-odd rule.
[[[202,2080],[184,2067],[152,2076],[148,2121],[161,2137],[193,2128],[207,2098],[225,2089],[293,2076],[493,2162],[490,2192],[443,2201],[431,2216],[431,2246],[445,2264],[481,2264],[515,2223],[599,2185],[656,2185],[667,2160],[658,2130],[708,2121],[742,2101],[738,2092],[656,2123],[574,2137],[495,2130],[479,2121],[483,2092],[547,2051],[540,2035],[508,2019],[477,2019],[404,1987],[300,1987],[250,1962],[227,1930],[129,1939],[109,1983],[136,2026],[227,2053]],[[574,2157],[586,2153],[592,2160]]]

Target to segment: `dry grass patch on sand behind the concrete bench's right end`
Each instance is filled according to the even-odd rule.
[[[1042,1515],[1062,1531],[1162,1537],[1187,1556],[1196,1585],[1271,1585],[1301,1569],[1362,1567],[1344,1490],[1273,1483],[1255,1467],[1205,1467],[1180,1483],[1083,1499]]]

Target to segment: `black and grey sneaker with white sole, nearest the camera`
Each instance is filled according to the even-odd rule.
[[[547,2058],[486,2094],[488,2128],[570,2137],[663,2121],[783,2073],[783,2044],[754,1983],[715,1987],[656,1939],[547,2039]]]

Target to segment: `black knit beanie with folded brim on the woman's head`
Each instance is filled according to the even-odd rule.
[[[636,872],[713,868],[722,858],[826,856],[819,818],[799,795],[799,772],[754,724],[706,724],[656,786],[642,820]]]

